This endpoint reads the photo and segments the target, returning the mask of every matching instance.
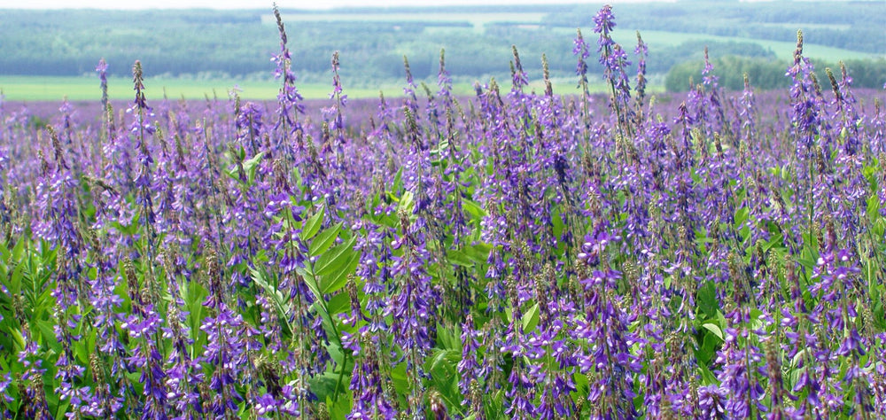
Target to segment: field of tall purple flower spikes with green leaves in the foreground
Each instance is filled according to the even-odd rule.
[[[802,35],[787,92],[654,98],[607,6],[610,95],[335,55],[311,112],[278,23],[272,103],[0,102],[0,415],[883,418],[883,92]]]

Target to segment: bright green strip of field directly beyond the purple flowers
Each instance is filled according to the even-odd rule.
[[[501,84],[502,94],[506,94],[510,86],[509,79],[501,77],[497,79]],[[436,82],[433,83],[431,91],[436,92]],[[170,99],[182,97],[185,99],[203,99],[205,97],[226,99],[229,90],[235,85],[239,89],[240,97],[249,100],[275,100],[279,91],[278,85],[272,82],[237,82],[234,80],[188,81],[149,78],[144,82],[144,85],[149,101],[161,99],[164,95]],[[559,94],[579,93],[579,90],[576,88],[576,82],[571,79],[557,79],[553,85],[554,90]],[[330,85],[327,83],[298,83],[297,87],[301,95],[306,99],[329,97],[331,90]],[[541,81],[532,81],[527,91],[532,89],[537,92],[543,91],[543,83]],[[605,91],[606,86],[602,83],[592,83],[590,89],[595,92],[602,92]],[[65,97],[71,101],[90,101],[98,100],[101,97],[98,79],[93,77],[0,75],[0,90],[3,91],[6,101],[60,101]],[[385,92],[385,97],[401,97],[403,95],[402,84],[391,82],[373,88],[349,88],[347,82],[345,82],[345,93],[348,97],[378,97],[379,90]],[[454,90],[456,95],[473,95],[473,82],[456,82]],[[652,86],[649,90],[662,91],[663,88]],[[132,82],[124,78],[109,79],[108,95],[112,99],[125,100],[132,98]],[[424,90],[420,87],[418,95],[419,97],[424,97]]]

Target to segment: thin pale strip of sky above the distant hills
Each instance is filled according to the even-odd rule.
[[[277,0],[283,8],[330,9],[343,6],[465,5],[465,4],[602,4],[605,0]],[[642,0],[633,0],[636,3]],[[649,1],[649,0],[646,0]],[[661,1],[661,0],[652,0]],[[632,0],[610,0],[629,3]],[[270,9],[273,0],[0,0],[0,9]]]

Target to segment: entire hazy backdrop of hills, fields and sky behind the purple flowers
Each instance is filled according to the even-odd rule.
[[[511,45],[536,89],[541,55],[558,93],[576,90],[576,29],[595,46],[592,17],[602,2],[540,0],[405,0],[279,2],[292,68],[306,97],[331,90],[330,58],[340,51],[340,74],[351,97],[402,92],[408,58],[419,81],[435,85],[440,51],[456,91],[509,80]],[[743,74],[758,89],[781,89],[789,79],[797,30],[816,68],[844,61],[855,85],[886,82],[886,2],[610,2],[613,37],[633,55],[639,31],[649,45],[647,78],[654,91],[680,91],[700,82],[708,47],[727,89],[742,89]],[[257,7],[259,6],[259,7]],[[153,2],[0,2],[0,89],[7,100],[97,97],[95,67],[108,63],[112,97],[131,94],[131,68],[142,61],[149,95],[202,98],[238,89],[243,97],[273,98],[272,55],[280,51],[273,4],[242,0]],[[595,51],[589,62],[596,65]],[[592,89],[599,67],[588,70]],[[823,76],[821,74],[820,76]],[[115,79],[120,79],[115,80]],[[820,77],[821,79],[821,77]]]

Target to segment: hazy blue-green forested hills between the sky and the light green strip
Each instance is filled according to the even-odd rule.
[[[784,2],[691,2],[676,4],[626,4],[626,42],[634,30],[666,31],[672,35],[706,34],[731,38],[663,42],[651,39],[655,49],[647,62],[649,79],[661,83],[673,66],[702,59],[705,45],[711,58],[735,56],[754,68],[747,73],[762,88],[783,87],[789,58],[775,61],[769,41],[792,42],[797,28],[812,29],[807,43],[879,54],[886,52],[886,30],[881,17],[882,2],[788,3]],[[488,75],[506,75],[502,66],[517,45],[527,62],[538,63],[544,53],[553,77],[572,72],[571,39],[575,28],[587,26],[583,16],[593,13],[589,5],[515,6],[502,10],[477,8],[397,8],[339,10],[335,13],[291,11],[299,19],[291,25],[293,68],[304,82],[328,77],[329,58],[340,51],[342,77],[351,85],[372,85],[401,80],[402,57],[408,56],[412,73],[420,80],[436,75],[436,52],[450,51],[447,66],[456,77],[481,80]],[[361,19],[356,12],[378,19]],[[497,17],[501,13],[523,13],[526,18]],[[337,18],[337,13],[353,18]],[[412,15],[410,15],[412,13]],[[471,13],[488,16],[475,26]],[[385,19],[390,16],[390,19]],[[409,17],[411,16],[411,17]],[[456,19],[437,19],[457,16]],[[532,18],[532,16],[535,16]],[[109,63],[110,74],[127,75],[129,65],[142,60],[152,74],[214,77],[229,74],[241,78],[266,78],[268,58],[276,51],[274,20],[266,11],[13,11],[0,13],[0,74],[80,75],[91,72],[98,58]],[[436,19],[436,20],[435,20]],[[524,19],[524,20],[520,20]],[[234,35],[236,34],[236,35]],[[786,52],[787,53],[787,52]],[[849,57],[827,58],[829,64]],[[592,74],[602,67],[589,64]],[[852,74],[859,87],[880,87],[886,78],[881,61],[864,66],[875,70],[872,81]],[[866,67],[866,68],[867,68]],[[527,66],[528,68],[528,66]],[[745,69],[720,66],[724,79],[742,80]],[[851,70],[854,68],[851,67]],[[860,66],[859,66],[860,68]],[[359,71],[358,71],[359,69]],[[536,66],[527,70],[540,78]],[[696,73],[701,67],[696,67]],[[672,79],[686,75],[678,69]],[[823,74],[821,75],[823,76]],[[759,79],[759,80],[758,80]],[[688,79],[672,83],[685,90]],[[734,83],[724,87],[741,89]]]

